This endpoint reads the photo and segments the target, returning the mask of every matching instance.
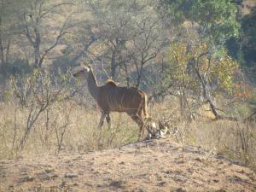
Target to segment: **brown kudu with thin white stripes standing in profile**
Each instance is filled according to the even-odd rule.
[[[75,68],[73,77],[87,80],[90,95],[96,100],[102,112],[99,129],[102,129],[105,119],[108,128],[111,129],[110,112],[125,112],[140,128],[138,140],[144,137],[144,120],[148,119],[148,112],[147,95],[143,90],[135,87],[120,87],[113,80],[108,80],[106,84],[99,86],[90,66]]]

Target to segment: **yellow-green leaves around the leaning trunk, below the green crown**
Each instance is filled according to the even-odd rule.
[[[170,70],[168,75],[172,80],[181,82],[183,86],[189,87],[190,90],[199,92],[201,84],[198,76],[195,75],[194,69],[204,76],[208,84],[215,84],[218,89],[215,93],[227,92],[232,94],[234,74],[238,63],[224,51],[221,55],[201,55],[207,53],[206,43],[198,44],[192,49],[188,49],[188,44],[172,44],[168,52],[168,61]],[[196,62],[195,62],[196,61]],[[190,65],[193,67],[191,68]],[[180,83],[179,83],[180,84]]]

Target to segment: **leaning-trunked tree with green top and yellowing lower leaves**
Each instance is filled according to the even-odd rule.
[[[179,60],[177,56],[174,57],[171,62],[175,61],[183,66],[177,67],[179,73],[183,74],[179,77],[182,81],[177,79],[182,83],[179,86],[183,87],[180,94],[184,97],[184,90],[195,85],[201,98],[209,103],[215,118],[219,119],[214,101],[215,93],[223,84],[226,85],[226,89],[222,89],[224,92],[230,90],[233,67],[236,66],[236,62],[230,59],[224,49],[227,39],[238,36],[240,25],[236,20],[236,5],[226,0],[162,0],[159,9],[165,10],[165,14],[167,12],[166,15],[176,23],[179,31],[175,46],[183,49],[174,48],[177,50],[174,55],[182,56]],[[190,81],[191,75],[193,79],[190,83],[194,84],[188,87],[186,79]]]

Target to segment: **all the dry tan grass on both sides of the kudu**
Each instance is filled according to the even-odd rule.
[[[102,137],[97,130],[100,119],[98,109],[86,109],[77,102],[55,102],[44,111],[27,137],[23,150],[18,148],[26,128],[28,111],[14,102],[0,104],[0,158],[44,156],[59,152],[116,148],[137,141],[138,127],[125,113],[112,113],[113,133],[103,125]],[[206,148],[214,154],[224,154],[256,168],[256,129],[254,125],[227,120],[196,119],[191,123],[180,121],[177,101],[169,98],[164,103],[150,106],[155,121],[171,119],[178,132],[173,140]],[[61,139],[61,136],[62,139]]]

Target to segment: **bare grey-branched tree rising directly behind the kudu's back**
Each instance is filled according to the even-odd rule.
[[[143,68],[164,49],[166,32],[150,1],[88,1],[93,19],[90,32],[94,42],[87,54],[104,61],[112,79],[125,76],[130,85],[130,73],[136,73],[138,87]]]

